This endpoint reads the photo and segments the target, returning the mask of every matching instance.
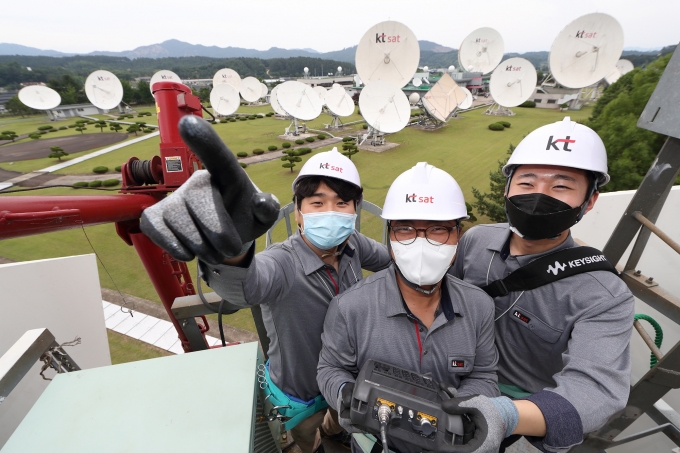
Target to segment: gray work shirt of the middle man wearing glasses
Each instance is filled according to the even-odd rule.
[[[427,329],[404,303],[395,272],[392,265],[331,301],[317,376],[328,404],[338,409],[340,387],[354,382],[368,359],[429,373],[458,388],[460,396],[500,395],[492,299],[446,275],[441,312]],[[394,446],[404,453],[419,451],[411,444]]]

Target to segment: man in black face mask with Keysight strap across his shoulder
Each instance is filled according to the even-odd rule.
[[[503,172],[509,222],[468,231],[450,271],[496,305],[509,437],[484,451],[503,451],[518,435],[542,451],[562,451],[628,399],[633,296],[601,252],[578,247],[569,232],[609,181],[607,155],[594,131],[567,117],[530,133]],[[452,401],[447,409],[495,414],[497,399],[491,406],[482,396]]]

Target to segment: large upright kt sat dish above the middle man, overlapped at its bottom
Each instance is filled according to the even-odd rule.
[[[406,85],[418,69],[420,45],[413,32],[395,21],[371,27],[359,41],[356,68],[365,84],[384,80],[398,88]]]

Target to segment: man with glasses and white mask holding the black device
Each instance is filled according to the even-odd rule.
[[[420,162],[394,181],[382,217],[394,264],[331,301],[319,357],[319,388],[340,423],[355,432],[357,453],[369,453],[376,444],[349,420],[354,382],[369,359],[429,373],[461,396],[499,395],[493,302],[446,273],[460,221],[468,218],[460,187],[448,173]],[[483,423],[467,445],[470,451],[488,434]],[[413,444],[388,443],[395,452],[420,451]]]

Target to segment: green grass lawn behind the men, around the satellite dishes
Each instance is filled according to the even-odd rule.
[[[269,106],[249,107],[252,113],[266,113]],[[516,116],[505,118],[512,123],[512,127],[502,132],[490,131],[487,126],[495,122],[483,114],[483,110],[468,112],[458,119],[433,132],[426,132],[414,128],[407,128],[397,134],[388,136],[388,141],[399,143],[395,149],[380,154],[361,151],[352,160],[362,175],[364,198],[382,206],[387,189],[394,178],[420,161],[427,161],[451,173],[465,194],[469,202],[474,201],[472,187],[481,191],[488,190],[489,171],[496,168],[496,162],[505,157],[510,143],[517,144],[533,129],[561,120],[562,112],[544,109],[514,109]],[[241,107],[239,112],[246,113]],[[589,109],[569,112],[572,119],[584,119]],[[356,116],[359,118],[358,115]],[[314,126],[322,127],[323,121],[312,122]],[[318,124],[317,124],[318,123]],[[253,148],[266,149],[266,145],[280,143],[276,135],[283,132],[288,125],[285,121],[264,118],[236,123],[219,124],[215,130],[231,147],[232,151],[251,152]],[[310,126],[311,127],[311,126]],[[361,127],[361,126],[359,126]],[[150,139],[140,144],[131,145],[122,150],[114,151],[87,163],[80,164],[83,172],[91,171],[96,165],[107,165],[113,168],[125,162],[128,157],[135,155],[149,158],[158,153],[157,139]],[[321,150],[328,149],[324,147]],[[319,152],[316,151],[315,152]],[[304,160],[308,158],[305,157]],[[110,159],[110,160],[107,160]],[[281,161],[274,160],[257,165],[250,165],[246,171],[251,179],[266,192],[275,194],[281,204],[287,204],[291,199],[291,183],[300,166],[291,173],[281,167]],[[304,163],[304,162],[303,162]],[[69,167],[69,171],[79,170]],[[85,195],[95,191],[74,191],[72,189],[46,189],[37,192],[26,192],[24,195]],[[380,222],[370,215],[362,217],[362,232],[370,237],[379,238]],[[484,219],[480,219],[484,222]],[[132,247],[126,246],[117,236],[113,225],[100,225],[85,228],[92,245],[109,270],[121,291],[138,297],[158,302],[151,282]],[[277,227],[275,240],[285,237],[285,228]],[[258,241],[258,249],[264,247],[264,240]],[[0,242],[0,256],[17,261],[52,258],[57,256],[92,253],[82,229],[61,231],[25,238],[9,239]],[[189,263],[189,269],[195,279],[195,263]],[[103,287],[114,288],[106,272],[99,265],[100,282]],[[225,322],[235,327],[254,331],[250,312],[242,310],[235,315],[225,318]]]

